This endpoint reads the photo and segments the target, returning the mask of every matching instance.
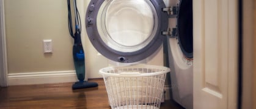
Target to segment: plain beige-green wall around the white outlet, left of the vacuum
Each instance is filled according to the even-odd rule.
[[[5,0],[9,73],[74,70],[66,0]],[[53,54],[43,53],[53,40]]]

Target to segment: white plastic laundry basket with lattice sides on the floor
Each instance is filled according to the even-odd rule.
[[[167,67],[138,64],[102,68],[100,74],[112,109],[156,109],[169,71]]]

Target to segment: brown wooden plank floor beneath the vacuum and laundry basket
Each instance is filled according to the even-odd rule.
[[[73,83],[18,85],[0,88],[0,108],[110,108],[103,79],[90,80],[98,88],[71,90]],[[181,108],[166,101],[161,109]]]

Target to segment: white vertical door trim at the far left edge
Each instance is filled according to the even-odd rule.
[[[7,50],[5,38],[4,0],[0,0],[0,86],[7,87]]]

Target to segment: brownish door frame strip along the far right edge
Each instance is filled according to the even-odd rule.
[[[241,61],[241,104],[240,108],[253,108],[254,96],[253,88],[254,88],[254,1],[248,0],[242,2],[242,61]]]

